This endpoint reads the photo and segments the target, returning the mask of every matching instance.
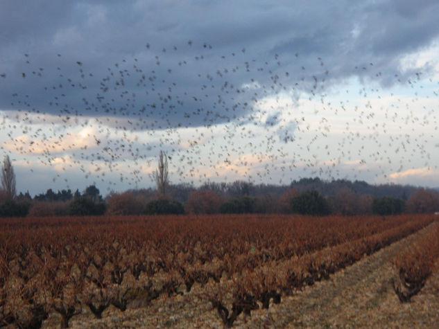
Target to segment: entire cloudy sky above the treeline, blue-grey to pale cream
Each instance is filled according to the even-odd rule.
[[[439,186],[437,1],[0,0],[17,191]]]

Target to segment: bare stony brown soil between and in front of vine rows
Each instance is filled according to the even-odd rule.
[[[400,303],[390,283],[396,278],[393,256],[415,235],[395,242],[326,281],[306,287],[268,310],[241,314],[234,328],[439,328],[439,272],[429,278],[411,303]],[[71,319],[71,328],[223,328],[216,310],[198,298],[201,288],[189,294],[160,298],[145,306],[141,301],[120,312],[109,308],[103,319],[85,312]],[[51,320],[46,328],[59,328]]]

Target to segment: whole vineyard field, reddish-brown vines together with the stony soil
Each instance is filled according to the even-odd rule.
[[[0,326],[438,323],[433,215],[29,217],[0,226]]]

